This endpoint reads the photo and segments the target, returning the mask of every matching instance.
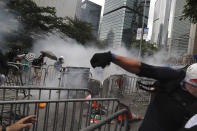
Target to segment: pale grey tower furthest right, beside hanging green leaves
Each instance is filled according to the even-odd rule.
[[[169,57],[180,57],[188,54],[191,23],[187,19],[180,20],[185,4],[185,0],[172,0],[168,36]]]

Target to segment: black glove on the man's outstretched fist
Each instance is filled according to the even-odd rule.
[[[109,51],[109,52],[94,54],[92,59],[90,60],[90,63],[93,68],[95,67],[105,68],[105,66],[110,65],[111,61],[112,61],[112,54]]]

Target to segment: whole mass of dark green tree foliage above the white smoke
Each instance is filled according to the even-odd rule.
[[[58,17],[54,7],[39,7],[32,0],[9,0],[7,5],[23,26],[14,36],[10,36],[17,38],[11,43],[23,43],[22,45],[24,45],[25,43],[20,36],[32,42],[33,35],[54,30],[76,39],[81,44],[95,40],[92,34],[93,27],[90,23],[80,21],[77,18]]]

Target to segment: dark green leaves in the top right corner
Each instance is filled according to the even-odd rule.
[[[197,23],[197,0],[186,0],[181,19],[189,19],[192,23]]]

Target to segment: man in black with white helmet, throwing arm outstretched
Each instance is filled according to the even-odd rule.
[[[105,68],[111,62],[140,77],[157,80],[139,131],[178,131],[197,114],[197,63],[185,72],[148,65],[111,52],[96,53],[90,61],[93,68]],[[190,125],[182,130],[197,130],[197,121]]]

